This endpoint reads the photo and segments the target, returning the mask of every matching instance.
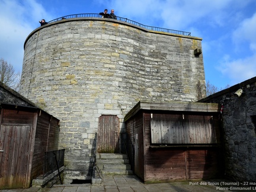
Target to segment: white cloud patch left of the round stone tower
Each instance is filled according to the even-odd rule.
[[[39,27],[39,20],[46,11],[34,0],[0,1],[0,57],[11,63],[16,71],[22,70],[24,41],[28,34]],[[40,19],[39,19],[40,18]]]

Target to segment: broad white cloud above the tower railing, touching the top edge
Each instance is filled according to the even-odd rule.
[[[139,18],[143,24],[153,24],[154,21],[162,21],[162,27],[173,29],[184,29],[192,25],[207,25],[222,26],[231,19],[230,14],[226,9],[232,7],[244,7],[251,0],[130,0],[120,1],[112,0],[108,4],[114,8],[117,15],[127,17],[131,20]],[[158,26],[161,27],[161,26]]]

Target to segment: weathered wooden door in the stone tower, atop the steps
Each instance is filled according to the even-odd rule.
[[[104,115],[99,118],[98,153],[119,153],[119,118]]]

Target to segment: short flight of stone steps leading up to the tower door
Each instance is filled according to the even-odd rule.
[[[127,155],[97,153],[96,165],[103,175],[133,175]]]

